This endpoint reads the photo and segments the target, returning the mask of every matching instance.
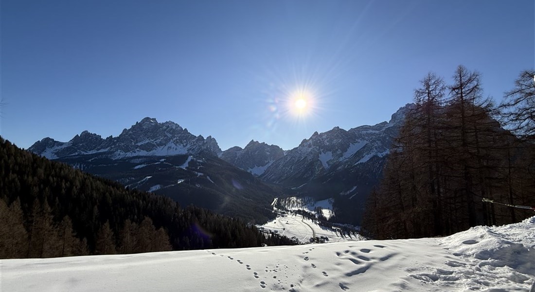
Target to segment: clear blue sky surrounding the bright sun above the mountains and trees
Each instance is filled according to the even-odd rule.
[[[429,71],[478,70],[501,100],[534,68],[534,39],[533,0],[2,0],[1,134],[27,148],[149,116],[222,149],[291,149],[387,121]]]

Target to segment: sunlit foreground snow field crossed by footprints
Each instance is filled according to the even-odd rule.
[[[444,238],[1,261],[1,291],[529,291],[535,217]]]

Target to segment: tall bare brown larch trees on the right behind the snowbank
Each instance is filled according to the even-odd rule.
[[[365,235],[442,236],[535,215],[482,201],[535,206],[534,74],[522,72],[499,105],[483,98],[477,71],[458,66],[450,85],[427,74],[366,202]]]

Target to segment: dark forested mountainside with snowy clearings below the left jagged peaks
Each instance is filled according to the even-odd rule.
[[[57,161],[112,179],[128,188],[155,192],[178,201],[244,220],[273,218],[279,191],[214,155],[133,156],[111,159],[102,153],[71,155]]]

